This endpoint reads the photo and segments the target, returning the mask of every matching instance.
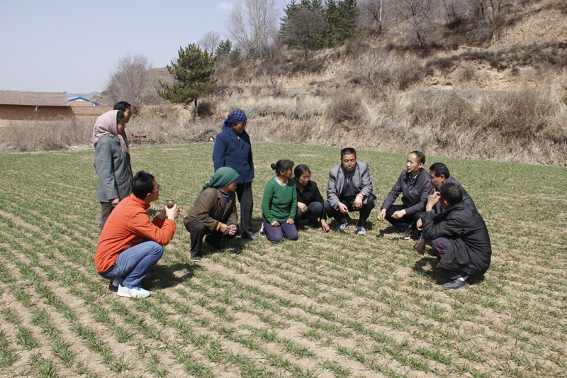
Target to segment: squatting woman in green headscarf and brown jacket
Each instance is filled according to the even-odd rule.
[[[234,238],[238,229],[235,190],[238,172],[222,167],[203,185],[201,194],[187,216],[185,228],[191,234],[191,260],[201,261],[201,245],[205,241],[219,250]]]

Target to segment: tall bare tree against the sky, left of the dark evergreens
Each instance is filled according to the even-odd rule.
[[[228,33],[247,55],[259,57],[276,39],[279,21],[276,0],[244,0],[230,12]]]

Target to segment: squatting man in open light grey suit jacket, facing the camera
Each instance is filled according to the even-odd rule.
[[[357,235],[366,235],[366,219],[374,206],[376,196],[372,191],[368,164],[357,161],[354,148],[344,148],[341,164],[329,170],[325,213],[337,220],[337,231],[344,231],[349,224],[349,213],[359,211]]]

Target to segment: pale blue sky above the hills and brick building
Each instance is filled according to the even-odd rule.
[[[121,57],[152,67],[226,23],[238,0],[0,0],[0,90],[103,91]]]

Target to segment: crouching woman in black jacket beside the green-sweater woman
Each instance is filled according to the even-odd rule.
[[[300,164],[293,169],[294,181],[297,188],[297,213],[296,222],[302,219],[308,220],[308,225],[312,228],[322,228],[326,233],[329,232],[327,216],[323,210],[323,197],[321,196],[317,183],[311,181],[311,171],[305,164]],[[320,220],[320,223],[319,223]]]

